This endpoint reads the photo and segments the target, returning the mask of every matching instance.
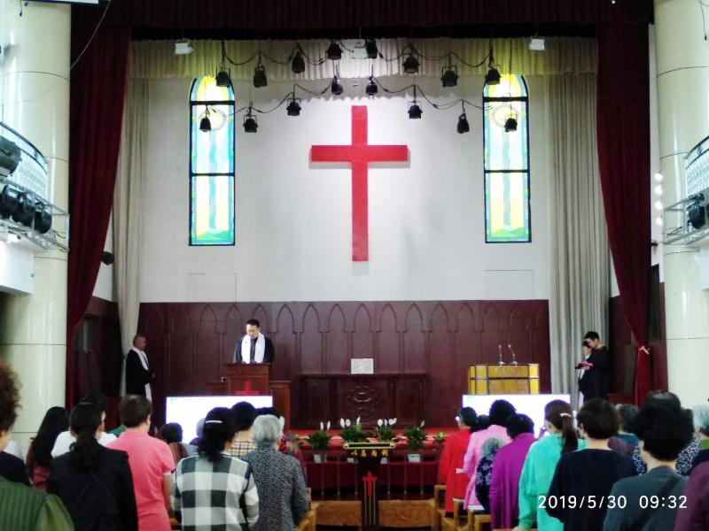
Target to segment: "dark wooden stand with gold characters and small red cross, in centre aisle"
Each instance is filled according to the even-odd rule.
[[[362,506],[362,531],[379,528],[379,465],[382,458],[396,447],[394,443],[345,443],[347,457],[357,462],[357,476],[360,485]]]

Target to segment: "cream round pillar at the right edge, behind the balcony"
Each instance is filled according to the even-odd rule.
[[[709,18],[709,10],[705,15]],[[709,42],[695,0],[655,0],[655,24],[659,155],[667,206],[686,196],[684,155],[709,135]],[[665,246],[669,390],[686,407],[709,396],[709,291],[701,289],[700,273],[697,248]]]

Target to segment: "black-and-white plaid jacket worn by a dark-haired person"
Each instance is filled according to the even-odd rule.
[[[226,453],[217,463],[200,456],[180,461],[171,503],[183,531],[242,531],[259,519],[251,466]]]

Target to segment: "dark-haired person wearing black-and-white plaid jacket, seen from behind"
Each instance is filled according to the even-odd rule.
[[[241,531],[253,529],[259,521],[259,494],[251,466],[229,455],[235,434],[230,410],[214,408],[206,415],[198,455],[177,465],[171,504],[183,529]]]

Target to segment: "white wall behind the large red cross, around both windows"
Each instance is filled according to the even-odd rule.
[[[532,243],[485,244],[482,115],[468,109],[471,133],[458,135],[460,108],[423,104],[408,118],[411,95],[303,99],[300,117],[259,116],[259,132],[237,127],[237,244],[190,248],[188,98],[190,80],[155,81],[144,204],[144,302],[441,300],[548,298],[546,131],[541,79],[530,89]],[[360,81],[362,82],[362,81]],[[403,87],[410,78],[386,79]],[[482,80],[437,101],[480,103]],[[322,82],[317,83],[318,89]],[[291,89],[237,85],[237,106],[253,97],[269,108]],[[352,81],[345,93],[363,94]],[[349,169],[313,168],[313,144],[350,143],[350,107],[369,108],[369,141],[409,145],[408,168],[370,169],[370,261],[351,261]]]

